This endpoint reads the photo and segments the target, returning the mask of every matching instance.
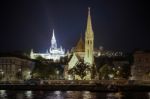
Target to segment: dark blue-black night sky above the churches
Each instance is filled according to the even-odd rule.
[[[88,7],[96,48],[150,49],[149,5],[146,0],[4,0],[0,51],[46,52],[53,28],[58,46],[70,50],[84,37]]]

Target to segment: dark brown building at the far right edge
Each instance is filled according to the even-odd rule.
[[[131,67],[131,79],[150,80],[150,52],[136,51]]]

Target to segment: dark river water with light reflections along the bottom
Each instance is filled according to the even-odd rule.
[[[9,91],[0,90],[0,99],[150,99],[149,92],[90,91]]]

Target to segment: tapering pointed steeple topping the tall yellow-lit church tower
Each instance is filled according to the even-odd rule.
[[[92,35],[93,36],[90,7],[88,7],[88,19],[87,19],[87,27],[86,27],[86,34],[85,35],[89,35],[89,36]]]

